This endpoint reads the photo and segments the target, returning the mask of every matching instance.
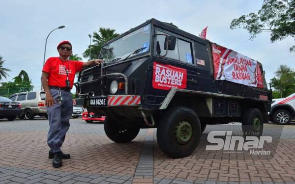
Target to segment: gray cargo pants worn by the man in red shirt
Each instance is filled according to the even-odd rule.
[[[60,152],[60,147],[65,139],[65,134],[70,128],[70,118],[73,113],[73,100],[71,92],[61,91],[62,102],[59,105],[57,89],[50,89],[50,93],[55,100],[55,104],[47,107],[49,120],[49,131],[47,144],[53,153]]]

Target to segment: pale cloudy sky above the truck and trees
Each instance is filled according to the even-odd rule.
[[[267,83],[279,65],[295,68],[292,38],[271,43],[269,33],[253,41],[244,29],[230,29],[231,21],[257,12],[263,0],[1,0],[0,55],[12,81],[21,70],[29,74],[34,86],[40,86],[45,40],[46,58],[58,56],[57,45],[69,40],[73,53],[82,57],[89,36],[99,27],[123,33],[148,19],[172,22],[178,28],[199,35],[207,28],[207,39],[242,53],[263,64]],[[83,58],[87,61],[88,58]]]

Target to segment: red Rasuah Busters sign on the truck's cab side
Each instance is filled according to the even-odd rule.
[[[169,90],[171,88],[186,88],[186,70],[183,68],[153,64],[152,87],[155,89]]]

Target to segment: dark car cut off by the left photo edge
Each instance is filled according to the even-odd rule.
[[[9,98],[0,97],[0,119],[7,118],[8,121],[13,121],[22,112],[22,105],[13,102]]]

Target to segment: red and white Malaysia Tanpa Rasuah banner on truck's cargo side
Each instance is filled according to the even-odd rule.
[[[212,44],[214,79],[263,87],[258,62],[233,50]]]

